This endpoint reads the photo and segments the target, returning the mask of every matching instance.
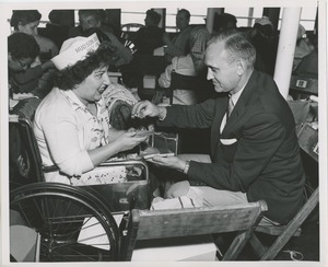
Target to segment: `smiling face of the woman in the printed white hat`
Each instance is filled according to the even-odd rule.
[[[110,84],[108,67],[95,69],[85,80],[73,89],[75,95],[83,104],[97,102],[102,98],[103,92]]]

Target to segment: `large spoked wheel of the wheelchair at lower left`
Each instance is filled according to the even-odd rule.
[[[119,231],[108,208],[83,188],[35,183],[11,191],[10,209],[38,234],[39,262],[115,262]]]

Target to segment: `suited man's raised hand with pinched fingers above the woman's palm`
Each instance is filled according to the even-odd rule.
[[[154,105],[149,101],[138,102],[131,112],[132,118],[144,118],[144,117],[161,117],[164,118],[166,116],[166,108]]]

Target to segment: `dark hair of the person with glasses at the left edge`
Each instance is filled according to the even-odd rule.
[[[8,36],[8,53],[14,59],[35,59],[39,54],[39,46],[35,38],[25,33],[13,33]]]

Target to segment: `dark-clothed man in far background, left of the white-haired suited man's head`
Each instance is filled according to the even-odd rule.
[[[164,38],[164,43],[167,44],[164,53],[168,63],[172,62],[174,57],[187,56],[190,53],[189,49],[189,38],[191,26],[190,22],[190,12],[186,9],[181,9],[176,14],[176,26],[179,30],[179,33],[171,40],[167,35],[167,39]]]

